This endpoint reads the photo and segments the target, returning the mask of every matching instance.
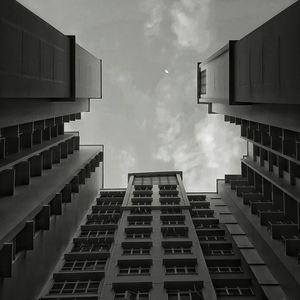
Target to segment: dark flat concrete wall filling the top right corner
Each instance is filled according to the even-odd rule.
[[[299,104],[299,14],[298,1],[235,44],[236,101]]]

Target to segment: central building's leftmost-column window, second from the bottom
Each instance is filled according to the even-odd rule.
[[[103,271],[105,264],[106,260],[72,260],[66,261],[61,271]]]

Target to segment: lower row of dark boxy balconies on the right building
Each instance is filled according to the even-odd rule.
[[[288,256],[299,256],[300,232],[298,202],[266,179],[252,181],[259,177],[251,168],[244,167],[247,177],[226,181],[231,189],[249,206],[251,214],[257,215],[261,226],[266,226],[272,239],[281,240]],[[259,184],[260,183],[260,184]]]

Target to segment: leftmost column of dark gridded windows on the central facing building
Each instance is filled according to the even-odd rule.
[[[119,191],[100,192],[70,251],[64,255],[60,270],[53,274],[47,295],[41,299],[98,299],[123,197]]]

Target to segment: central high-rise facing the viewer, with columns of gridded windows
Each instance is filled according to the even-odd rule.
[[[101,190],[40,300],[286,299],[229,205],[182,176]]]

